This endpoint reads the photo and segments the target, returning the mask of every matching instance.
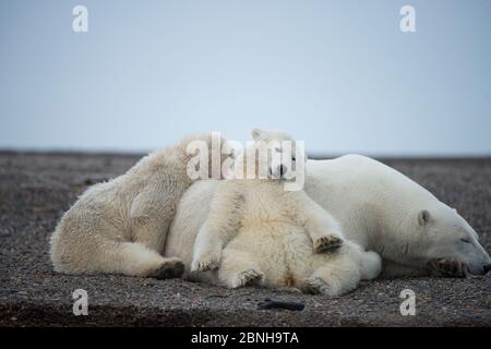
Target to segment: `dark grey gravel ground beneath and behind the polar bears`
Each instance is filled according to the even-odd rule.
[[[490,326],[491,277],[399,278],[362,284],[340,298],[227,290],[181,279],[53,273],[48,238],[87,185],[118,176],[137,156],[0,153],[1,326]],[[458,208],[491,251],[491,158],[384,159]],[[88,292],[74,316],[72,292]],[[402,290],[416,292],[416,316],[402,316]],[[258,310],[265,298],[303,311]]]

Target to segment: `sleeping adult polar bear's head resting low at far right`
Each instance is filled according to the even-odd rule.
[[[432,270],[447,276],[488,273],[491,258],[476,231],[456,209],[443,203],[432,206],[412,215],[418,257]]]

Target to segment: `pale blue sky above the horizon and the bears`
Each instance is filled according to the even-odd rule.
[[[488,0],[2,0],[0,44],[0,148],[139,152],[258,125],[311,152],[491,155]]]

